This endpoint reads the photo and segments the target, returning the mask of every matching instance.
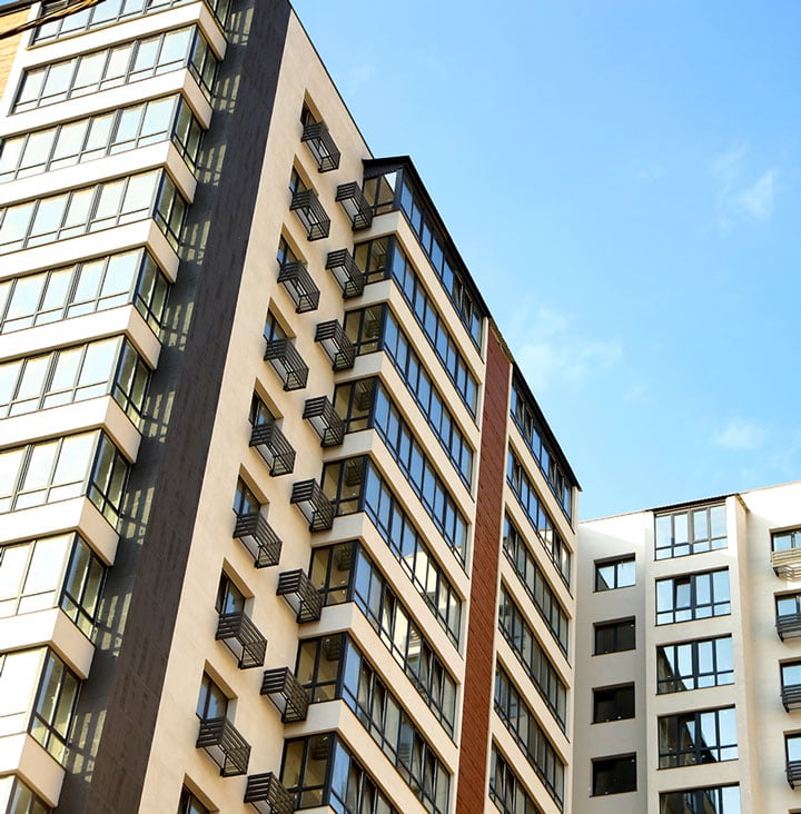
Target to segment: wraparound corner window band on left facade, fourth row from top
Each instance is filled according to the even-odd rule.
[[[0,210],[0,255],[152,218],[178,247],[187,202],[165,170],[116,178]]]

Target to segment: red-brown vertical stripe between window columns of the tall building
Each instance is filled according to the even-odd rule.
[[[511,364],[491,326],[476,500],[456,814],[484,811]]]

